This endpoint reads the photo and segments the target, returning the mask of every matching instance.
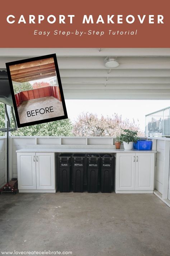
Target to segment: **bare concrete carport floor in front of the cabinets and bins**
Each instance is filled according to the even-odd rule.
[[[170,208],[154,194],[0,195],[1,251],[169,256]]]

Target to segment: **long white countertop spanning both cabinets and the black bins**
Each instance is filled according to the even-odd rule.
[[[124,149],[115,149],[115,148],[78,148],[78,147],[68,147],[68,148],[23,148],[16,151],[17,153],[156,153],[155,150],[124,150]]]

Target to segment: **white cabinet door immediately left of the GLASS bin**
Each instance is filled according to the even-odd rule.
[[[36,153],[37,189],[55,189],[55,154]]]

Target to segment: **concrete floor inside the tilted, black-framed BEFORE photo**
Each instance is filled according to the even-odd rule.
[[[34,111],[33,114],[35,114],[36,109],[45,109],[46,107],[53,107],[54,112],[50,113],[43,113],[44,111],[42,110],[41,113],[37,113],[35,116],[29,116],[27,115],[27,111]],[[39,98],[39,99],[33,99],[33,100],[28,100],[24,101],[18,108],[18,115],[19,115],[19,120],[20,123],[28,123],[28,122],[33,122],[37,120],[44,120],[47,118],[53,118],[53,117],[58,117],[58,116],[64,116],[64,111],[62,107],[62,102],[57,100],[56,98],[49,96],[49,97],[44,97],[44,98]]]

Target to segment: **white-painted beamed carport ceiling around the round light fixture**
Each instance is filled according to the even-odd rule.
[[[170,99],[170,48],[1,48],[0,68],[51,53],[65,99]],[[107,56],[119,66],[106,68]]]

